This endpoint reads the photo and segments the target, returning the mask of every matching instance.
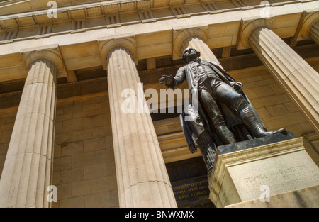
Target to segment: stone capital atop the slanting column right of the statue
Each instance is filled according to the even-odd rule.
[[[240,22],[240,28],[238,31],[236,48],[237,50],[243,50],[250,48],[250,43],[248,42],[248,38],[250,37],[250,33],[253,30],[259,27],[267,27],[272,29],[272,23],[274,21],[274,17],[272,18],[255,18],[245,20],[242,19]]]

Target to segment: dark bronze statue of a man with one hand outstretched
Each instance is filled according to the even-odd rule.
[[[195,107],[191,101],[187,111],[181,113],[181,126],[189,149],[196,152],[199,147],[210,174],[216,146],[260,138],[285,129],[267,131],[242,91],[242,83],[230,77],[217,62],[203,61],[199,57],[200,52],[186,48],[181,57],[186,65],[179,68],[175,77],[163,75],[159,82],[173,89],[186,79],[191,93],[197,94],[198,105]],[[189,116],[194,121],[185,121]]]

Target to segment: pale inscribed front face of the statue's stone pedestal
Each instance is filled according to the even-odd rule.
[[[260,188],[263,185],[269,187],[272,195],[319,184],[318,170],[313,170],[315,166],[310,164],[310,160],[305,160],[307,160],[306,152],[300,151],[259,160],[258,163],[250,162],[246,165],[229,167],[228,171],[237,184],[238,194],[242,200],[250,199],[252,196],[257,199],[262,194]],[[281,165],[274,165],[274,161],[281,162]],[[297,165],[293,165],[296,163]],[[242,174],[238,174],[238,171]]]

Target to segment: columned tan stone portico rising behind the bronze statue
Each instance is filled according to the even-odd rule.
[[[79,206],[89,206],[103,195],[105,205],[101,206],[177,207],[177,185],[172,185],[167,165],[200,154],[191,155],[186,148],[177,116],[157,121],[145,111],[123,113],[122,92],[133,89],[136,95],[143,95],[144,104],[143,90],[161,88],[155,75],[174,73],[181,66],[172,62],[170,67],[159,67],[158,61],[178,61],[189,47],[200,51],[202,60],[220,62],[224,69],[229,67],[228,60],[251,56],[251,52],[240,53],[252,49],[262,65],[227,71],[243,82],[244,90],[247,85],[253,106],[270,130],[277,128],[274,122],[280,117],[272,113],[274,109],[291,115],[283,123],[304,136],[313,149],[311,157],[318,160],[314,150],[319,149],[319,55],[301,56],[294,48],[298,42],[319,43],[319,13],[314,7],[318,1],[272,3],[271,9],[277,10],[269,18],[260,18],[262,6],[248,3],[218,9],[211,1],[132,2],[79,6],[58,2],[60,11],[52,20],[45,17],[45,10],[23,13],[0,5],[12,10],[0,15],[0,82],[25,81],[18,103],[0,107],[0,120],[4,119],[0,148],[5,150],[1,152],[5,159],[0,174],[1,207],[50,207],[50,185],[57,185],[65,204],[59,203],[60,207],[81,201],[86,205]],[[118,5],[121,7],[116,8]],[[130,18],[125,17],[130,13]],[[138,15],[135,21],[133,13]],[[36,34],[39,27],[41,35]],[[36,31],[31,35],[33,28]],[[140,68],[143,64],[144,69]],[[94,80],[90,70],[100,70],[103,75]],[[87,79],[81,80],[81,72]],[[250,78],[255,79],[248,81]],[[262,89],[276,85],[271,92],[252,86],[270,79],[274,79],[272,84]],[[104,88],[96,92],[86,87],[88,93],[84,87],[82,91],[76,88],[91,82]],[[138,87],[140,83],[144,89]],[[69,87],[69,94],[75,96],[59,99],[59,85],[61,91]],[[11,96],[12,92],[2,94]],[[273,99],[265,99],[267,96]],[[277,98],[282,101],[272,103]],[[11,111],[16,114],[9,116]],[[14,118],[11,125],[6,123],[9,117]],[[297,123],[291,123],[294,119]],[[99,192],[94,193],[92,187]]]

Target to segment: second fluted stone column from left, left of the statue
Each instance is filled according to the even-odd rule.
[[[110,43],[111,42],[111,43]],[[114,48],[115,45],[118,45]],[[101,49],[108,70],[116,177],[120,207],[177,207],[150,113],[131,110],[123,102],[144,104],[140,77],[135,67],[135,45],[126,39],[110,40]],[[104,56],[102,56],[104,57]],[[104,58],[105,58],[104,57]],[[128,92],[126,91],[126,92]],[[132,106],[132,104],[131,104]],[[134,105],[133,105],[134,106]]]

